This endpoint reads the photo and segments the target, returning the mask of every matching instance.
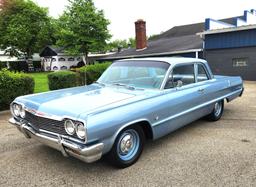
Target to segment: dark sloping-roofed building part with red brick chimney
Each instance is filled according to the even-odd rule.
[[[125,58],[187,56],[202,57],[203,40],[196,35],[203,31],[203,24],[179,26],[170,29],[153,40],[146,40],[146,22],[135,22],[136,48],[124,49],[100,60],[117,60]]]

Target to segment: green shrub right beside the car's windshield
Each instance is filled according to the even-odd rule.
[[[81,85],[88,85],[95,82],[110,65],[111,62],[105,62],[94,65],[87,65],[80,68]]]

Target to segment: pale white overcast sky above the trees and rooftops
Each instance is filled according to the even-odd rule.
[[[33,0],[48,7],[55,18],[68,5],[67,0]],[[146,21],[147,35],[159,34],[174,26],[204,22],[205,18],[222,19],[243,15],[256,9],[255,0],[94,0],[110,20],[112,40],[135,37],[134,22]]]

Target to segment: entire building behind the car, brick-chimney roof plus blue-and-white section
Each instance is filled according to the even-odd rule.
[[[175,26],[147,41],[146,22],[135,22],[136,48],[98,61],[141,57],[193,57],[209,62],[213,73],[256,80],[256,11],[242,16]]]

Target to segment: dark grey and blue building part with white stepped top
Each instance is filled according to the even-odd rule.
[[[205,20],[204,58],[215,74],[256,80],[256,11],[244,11],[231,23]]]

